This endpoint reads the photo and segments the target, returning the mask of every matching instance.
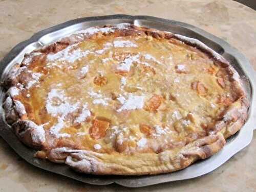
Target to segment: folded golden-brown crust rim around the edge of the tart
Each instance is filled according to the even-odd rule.
[[[95,29],[98,28],[100,27],[95,27]],[[184,169],[196,160],[205,159],[214,155],[225,145],[225,138],[241,129],[247,118],[249,102],[237,71],[234,70],[222,56],[196,39],[175,35],[169,32],[136,27],[130,24],[125,24],[125,28],[123,29],[116,26],[104,26],[103,28],[113,28],[114,31],[111,33],[118,33],[120,36],[144,34],[154,38],[176,38],[188,45],[196,46],[202,52],[207,53],[210,57],[219,62],[221,66],[228,71],[232,79],[233,90],[239,92],[240,98],[226,110],[222,119],[209,128],[208,136],[189,143],[178,152],[166,150],[158,154],[144,153],[143,155],[137,154],[133,156],[124,156],[115,152],[114,156],[112,156],[111,154],[100,154],[92,151],[63,147],[48,149],[47,153],[38,152],[36,156],[45,157],[57,163],[66,163],[78,172],[96,175],[146,175],[167,173]],[[70,44],[82,41],[94,35],[73,34],[51,45],[45,46],[42,49],[35,50],[31,54],[57,53]],[[25,56],[25,58],[27,57],[30,57],[30,54]],[[25,64],[23,63],[23,65]],[[43,126],[38,126],[34,122],[29,121],[24,105],[15,100],[16,94],[18,94],[19,91],[16,78],[19,71],[20,65],[14,65],[3,84],[5,88],[10,88],[6,93],[6,99],[3,104],[5,119],[9,125],[12,125],[17,137],[26,145],[39,150],[45,149],[47,148],[45,145],[46,133]]]

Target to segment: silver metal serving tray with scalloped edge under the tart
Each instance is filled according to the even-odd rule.
[[[41,169],[64,175],[84,183],[97,185],[117,183],[127,187],[141,187],[169,181],[190,179],[207,174],[221,166],[230,157],[242,150],[251,142],[253,136],[253,126],[255,126],[256,114],[255,110],[253,110],[255,109],[256,102],[253,87],[256,85],[256,81],[254,78],[255,73],[253,68],[250,66],[248,60],[227,42],[199,28],[183,22],[151,16],[131,15],[108,15],[70,20],[49,29],[42,30],[34,34],[30,39],[17,44],[0,62],[0,76],[3,78],[11,66],[17,62],[21,62],[25,53],[29,53],[34,49],[50,44],[63,36],[67,36],[68,34],[92,26],[116,24],[121,22],[129,22],[136,26],[155,28],[162,31],[169,31],[172,33],[196,38],[225,57],[233,65],[233,67],[236,68],[239,75],[242,77],[243,83],[248,93],[248,97],[251,102],[249,116],[246,124],[237,134],[233,135],[227,140],[227,144],[219,153],[208,159],[198,161],[184,170],[153,176],[95,176],[76,173],[72,171],[68,165],[65,164],[57,164],[47,160],[34,158],[33,155],[35,150],[26,147],[17,139],[16,135],[11,131],[10,127],[5,124],[3,115],[1,115],[0,135],[6,140],[6,142],[9,143],[9,145],[20,157]],[[0,102],[2,103],[4,95],[2,88],[0,94]],[[0,113],[3,114],[3,109],[0,110]]]

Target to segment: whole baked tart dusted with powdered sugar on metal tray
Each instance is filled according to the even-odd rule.
[[[129,23],[24,56],[3,83],[5,121],[35,157],[96,175],[173,172],[245,123],[236,70],[202,42]]]

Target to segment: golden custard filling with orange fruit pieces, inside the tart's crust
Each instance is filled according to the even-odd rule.
[[[225,70],[176,39],[101,36],[34,55],[17,99],[49,147],[175,151],[208,135],[238,99]]]

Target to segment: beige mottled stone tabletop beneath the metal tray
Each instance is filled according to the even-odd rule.
[[[104,5],[104,6],[102,6]],[[237,47],[256,69],[256,11],[229,1],[11,1],[0,0],[0,60],[35,32],[78,17],[152,15],[190,23]],[[135,189],[138,191],[255,191],[256,145],[234,155],[197,179]],[[0,191],[128,191],[116,184],[93,186],[39,170],[19,158],[0,138]]]

